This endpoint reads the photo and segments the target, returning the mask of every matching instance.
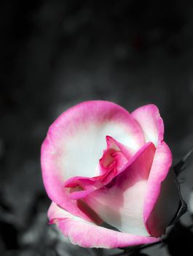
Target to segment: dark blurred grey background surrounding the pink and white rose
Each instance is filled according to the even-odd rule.
[[[187,0],[1,1],[0,255],[122,252],[72,246],[48,227],[40,147],[64,110],[106,99],[129,111],[157,105],[174,162],[184,157],[193,145],[192,12]],[[192,167],[181,177],[187,203]],[[191,218],[143,253],[193,252]]]

